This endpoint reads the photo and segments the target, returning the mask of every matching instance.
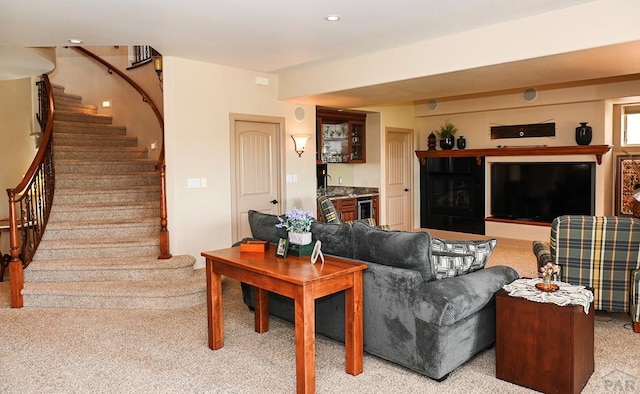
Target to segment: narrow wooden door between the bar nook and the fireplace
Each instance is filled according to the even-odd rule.
[[[386,224],[393,230],[413,230],[413,130],[386,129]]]

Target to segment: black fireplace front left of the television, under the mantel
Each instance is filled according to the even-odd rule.
[[[484,158],[427,158],[420,167],[420,226],[484,234]]]

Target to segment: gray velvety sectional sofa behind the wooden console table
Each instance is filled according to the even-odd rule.
[[[286,237],[276,223],[277,216],[249,212],[256,239],[276,243]],[[518,277],[510,267],[483,268],[495,240],[446,241],[359,222],[316,222],[311,231],[323,253],[368,266],[363,276],[367,353],[442,380],[495,342],[495,293]],[[243,283],[242,291],[252,308],[253,288]],[[293,302],[271,293],[269,312],[293,321]],[[316,301],[316,333],[344,341],[344,292]]]

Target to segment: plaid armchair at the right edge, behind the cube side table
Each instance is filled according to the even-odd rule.
[[[533,249],[539,266],[560,265],[563,282],[592,287],[595,309],[630,312],[640,322],[638,294],[631,294],[640,280],[636,274],[633,286],[632,271],[640,269],[640,219],[560,216],[551,224],[550,247],[536,241]]]

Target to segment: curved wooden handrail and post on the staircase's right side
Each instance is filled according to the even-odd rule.
[[[166,176],[166,164],[164,160],[164,118],[162,114],[158,110],[158,106],[155,104],[151,96],[147,94],[147,92],[140,87],[135,81],[133,81],[127,74],[114,67],[111,63],[102,59],[100,56],[94,54],[93,52],[83,48],[74,46],[71,47],[76,51],[88,56],[98,63],[107,67],[107,71],[111,74],[116,73],[122,79],[124,79],[131,87],[133,87],[141,96],[142,100],[149,104],[149,107],[153,110],[156,118],[158,119],[158,123],[160,124],[161,130],[161,146],[160,146],[160,155],[158,156],[158,161],[156,163],[156,169],[160,173],[160,256],[159,259],[170,259],[171,253],[169,251],[169,230],[167,228],[167,176]]]

